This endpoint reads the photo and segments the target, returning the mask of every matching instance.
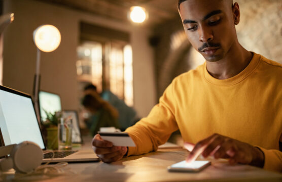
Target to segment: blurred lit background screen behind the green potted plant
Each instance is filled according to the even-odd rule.
[[[54,114],[56,111],[62,110],[61,99],[59,95],[40,91],[38,97],[39,97],[40,115],[42,121],[46,121],[47,116],[45,111]]]

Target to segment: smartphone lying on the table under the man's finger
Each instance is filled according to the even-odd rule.
[[[167,170],[172,172],[199,172],[210,164],[210,161],[193,161],[191,163],[187,163],[184,160],[168,166]]]

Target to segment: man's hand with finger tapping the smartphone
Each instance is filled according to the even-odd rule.
[[[214,156],[216,159],[229,158],[230,164],[250,164],[258,167],[264,165],[264,154],[260,149],[217,133],[198,142],[194,148],[188,143],[185,146],[192,149],[187,162],[194,161],[202,154],[203,157]]]

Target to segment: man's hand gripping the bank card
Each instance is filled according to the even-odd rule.
[[[104,141],[99,134],[92,140],[92,148],[97,156],[105,163],[120,160],[127,152],[127,147],[113,146],[109,141]]]

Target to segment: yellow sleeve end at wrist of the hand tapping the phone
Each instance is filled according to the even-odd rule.
[[[263,168],[266,170],[282,172],[282,152],[278,150],[267,150],[261,147],[258,148],[264,153]]]

